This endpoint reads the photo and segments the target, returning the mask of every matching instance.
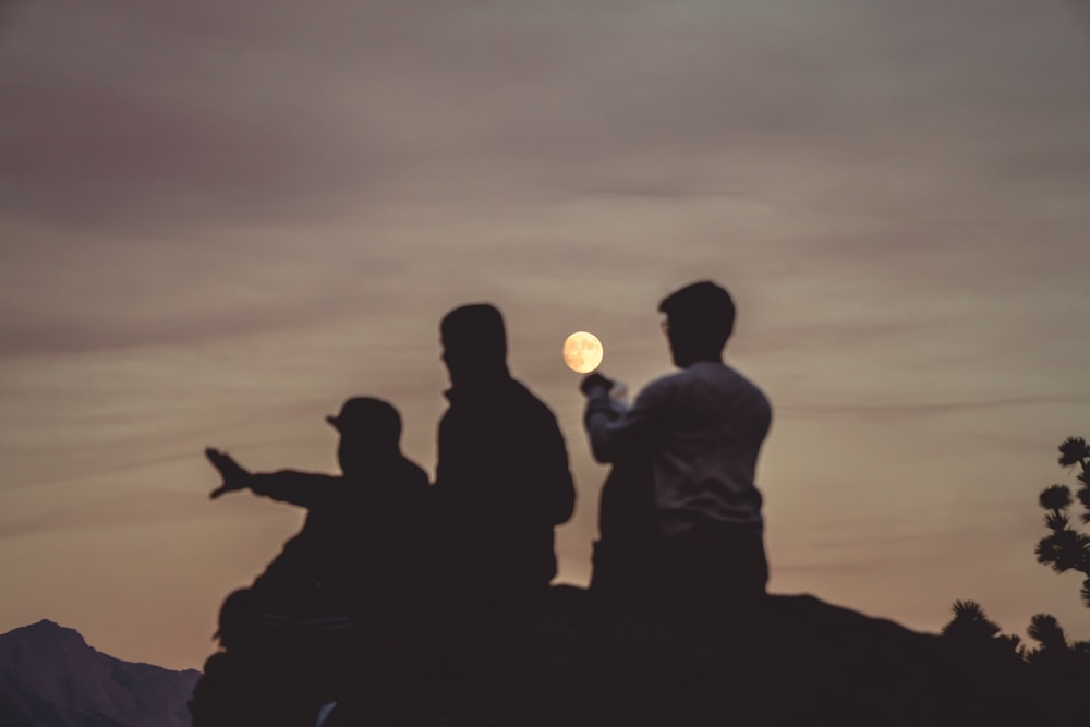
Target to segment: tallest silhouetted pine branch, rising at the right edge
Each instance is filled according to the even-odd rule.
[[[1085,511],[1079,520],[1082,524],[1090,523],[1090,445],[1087,440],[1082,437],[1064,440],[1059,445],[1059,464],[1081,469],[1077,475],[1081,483],[1077,497]],[[1067,512],[1074,504],[1071,490],[1067,485],[1051,485],[1041,492],[1039,501],[1046,511],[1044,524],[1052,532],[1037,544],[1037,560],[1057,573],[1069,570],[1082,573],[1085,580],[1079,595],[1083,605],[1090,608],[1090,535],[1071,526]]]

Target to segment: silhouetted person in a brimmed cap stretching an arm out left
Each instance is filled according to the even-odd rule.
[[[262,704],[250,705],[266,719],[301,708],[313,723],[318,704],[347,691],[389,699],[409,688],[412,662],[432,637],[429,487],[401,453],[401,417],[385,401],[358,397],[326,420],[340,433],[340,476],[251,473],[206,450],[223,476],[213,498],[249,488],[307,509],[299,534],[220,616],[232,673],[249,675],[249,693],[253,680],[268,682]]]

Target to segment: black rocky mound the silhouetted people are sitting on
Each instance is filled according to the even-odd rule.
[[[421,714],[429,696],[420,694],[389,723],[1080,724],[1074,698],[1090,693],[1010,654],[808,595],[726,607],[604,599],[568,586],[506,604],[447,677],[463,687],[457,713]],[[327,725],[371,724],[366,702],[361,690]]]

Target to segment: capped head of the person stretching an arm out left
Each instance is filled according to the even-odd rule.
[[[401,453],[401,415],[382,399],[353,397],[326,421],[341,435],[337,458],[344,474]]]

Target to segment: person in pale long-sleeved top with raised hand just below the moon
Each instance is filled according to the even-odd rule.
[[[595,459],[639,462],[644,452],[650,465],[659,541],[639,555],[646,558],[642,568],[631,562],[622,568],[646,573],[643,587],[633,590],[663,596],[760,596],[768,565],[754,477],[772,407],[756,386],[723,362],[735,323],[726,290],[697,282],[667,296],[658,310],[666,314],[663,329],[679,373],[647,385],[627,410],[609,398],[613,381],[602,374],[588,376],[580,387],[586,395],[584,423]],[[632,475],[633,487],[646,483]],[[641,497],[633,495],[637,501]],[[639,512],[633,510],[633,517]],[[625,517],[620,510],[602,513],[603,541],[606,523]]]

